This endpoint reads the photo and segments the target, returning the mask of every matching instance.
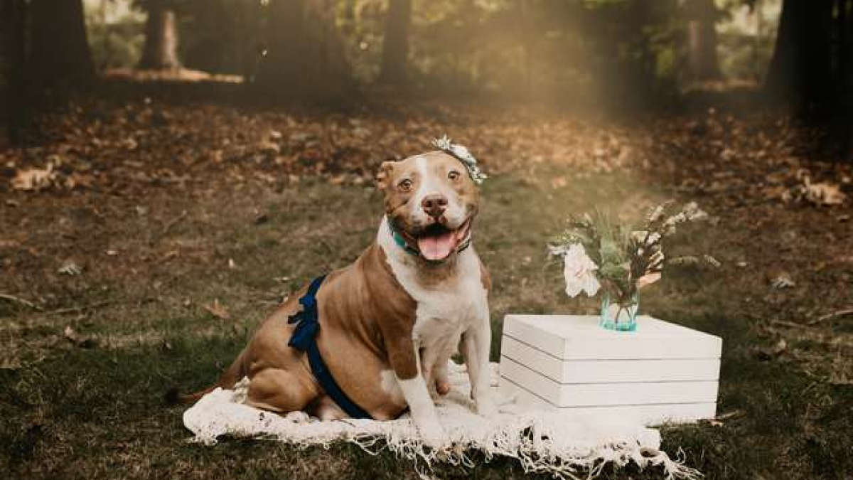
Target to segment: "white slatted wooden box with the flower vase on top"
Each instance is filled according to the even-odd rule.
[[[580,419],[663,424],[716,415],[720,337],[645,316],[632,332],[598,322],[594,316],[507,315],[502,393]]]

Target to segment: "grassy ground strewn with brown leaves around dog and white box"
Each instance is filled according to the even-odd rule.
[[[711,224],[685,239],[722,267],[664,277],[641,311],[723,337],[721,418],[665,427],[664,447],[709,478],[853,476],[853,173],[813,148],[820,131],[714,111],[616,121],[142,99],[38,122],[37,147],[0,152],[0,471],[12,477],[417,477],[345,445],[188,444],[181,409],[160,399],[210,383],[282,297],[354,260],[381,214],[375,168],[444,132],[492,177],[475,244],[496,332],[509,312],[595,312],[566,298],[548,258],[567,214],[699,202]],[[511,460],[434,472],[522,473]]]

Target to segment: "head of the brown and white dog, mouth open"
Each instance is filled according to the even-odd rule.
[[[450,258],[471,232],[479,196],[456,157],[434,151],[386,161],[378,179],[388,221],[423,258]]]

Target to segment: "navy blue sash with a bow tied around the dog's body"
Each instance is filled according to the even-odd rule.
[[[332,377],[332,372],[329,372],[326,362],[322,360],[320,350],[317,348],[316,335],[320,324],[317,322],[319,318],[319,309],[317,308],[316,294],[320,290],[322,281],[326,278],[325,275],[314,278],[305,292],[305,296],[299,299],[299,305],[302,306],[302,311],[295,313],[287,319],[288,324],[298,324],[293,331],[293,337],[290,337],[290,342],[287,345],[296,348],[300,352],[308,354],[308,363],[311,366],[311,372],[314,373],[314,378],[326,394],[332,397],[338,407],[353,419],[372,419],[369,413],[365,412],[362,407],[359,407],[355,401],[352,401],[345,391],[340,388],[337,382]]]

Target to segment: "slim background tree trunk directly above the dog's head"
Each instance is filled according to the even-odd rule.
[[[391,0],[385,18],[380,83],[404,85],[409,80],[409,26],[411,0]]]

